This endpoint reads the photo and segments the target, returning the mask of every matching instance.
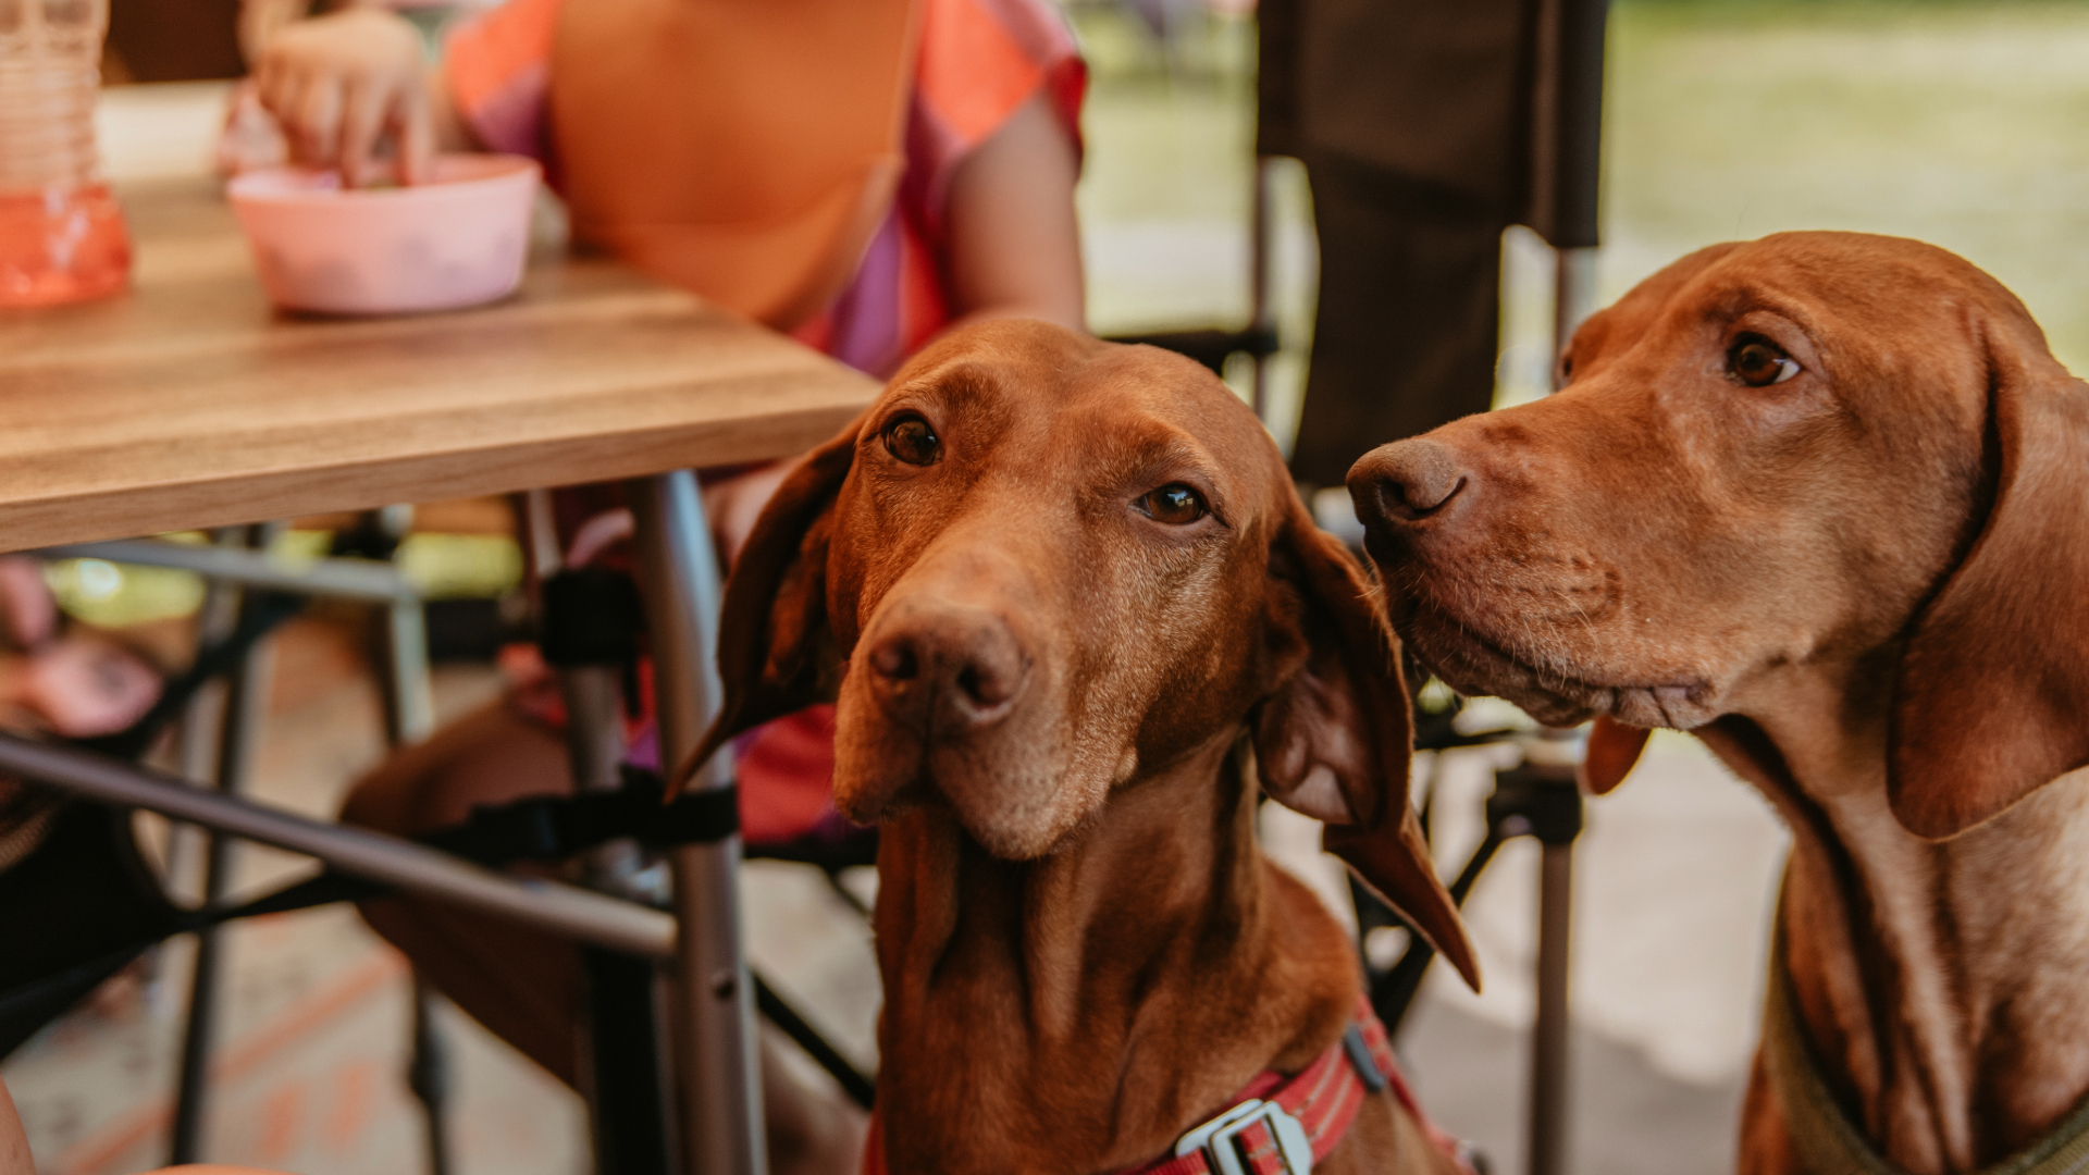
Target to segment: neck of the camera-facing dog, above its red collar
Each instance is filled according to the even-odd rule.
[[[1132,1167],[1339,1035],[1354,947],[1255,849],[1228,742],[1118,788],[1034,861],[990,857],[942,809],[884,822],[890,1171]]]

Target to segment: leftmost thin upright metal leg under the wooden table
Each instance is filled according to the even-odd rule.
[[[247,527],[247,544],[265,548],[276,533],[274,523]],[[261,723],[267,715],[269,669],[276,646],[259,640],[226,684],[224,725],[217,740],[217,790],[238,790],[247,780],[261,744]],[[232,880],[232,838],[211,834],[203,866],[203,899],[217,901]],[[188,1027],[182,1037],[180,1087],[173,1104],[171,1167],[196,1162],[203,1156],[203,1116],[209,1087],[211,1035],[217,1012],[219,932],[196,935],[196,966],[188,987]]]

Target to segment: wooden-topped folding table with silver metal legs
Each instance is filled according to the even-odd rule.
[[[813,447],[869,404],[869,378],[623,266],[556,251],[489,307],[290,316],[263,297],[213,184],[121,197],[138,245],[130,295],[0,314],[0,552],[625,479],[662,761],[696,746],[719,705],[719,573],[687,470]],[[121,792],[109,776],[121,767],[36,751],[6,755],[77,794]],[[725,782],[723,771],[702,780]],[[163,811],[194,820],[205,799],[238,803],[144,776],[130,786],[123,803],[161,794]],[[234,809],[215,822],[247,836],[263,826]],[[330,832],[343,851],[326,851]],[[443,880],[455,870],[412,845],[326,828],[297,836],[336,868],[516,916],[497,878]],[[737,861],[737,838],[671,855],[687,1175],[765,1169]],[[568,924],[587,897],[566,903]]]

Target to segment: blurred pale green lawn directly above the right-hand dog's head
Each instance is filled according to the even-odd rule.
[[[1627,0],[1613,10],[1600,284],[1717,240],[1916,236],[2089,364],[2089,6]]]

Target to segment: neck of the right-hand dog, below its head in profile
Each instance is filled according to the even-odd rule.
[[[1972,1171],[2089,1091],[2089,774],[1953,840],[1886,803],[1891,650],[1700,732],[1794,832],[1788,970],[1830,1087],[1893,1162]]]

